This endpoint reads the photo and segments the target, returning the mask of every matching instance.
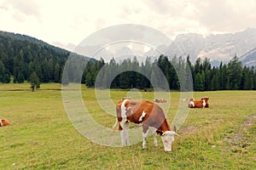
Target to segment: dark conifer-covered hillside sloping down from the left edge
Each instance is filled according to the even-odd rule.
[[[34,72],[40,82],[61,82],[69,54],[36,38],[0,31],[0,82],[30,81]]]

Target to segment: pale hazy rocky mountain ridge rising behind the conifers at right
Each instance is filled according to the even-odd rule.
[[[210,34],[207,37],[196,33],[182,34],[178,35],[173,43],[183,49],[183,54],[189,54],[192,62],[200,57],[208,58],[212,62],[227,63],[236,55],[241,58],[244,65],[247,65],[245,54],[256,48],[256,29],[247,28],[235,33]],[[176,48],[169,48],[171,51],[177,51]],[[256,62],[253,65],[256,65]]]

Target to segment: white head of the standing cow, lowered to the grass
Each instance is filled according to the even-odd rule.
[[[174,141],[174,135],[178,135],[176,133],[176,127],[173,127],[172,131],[166,131],[161,134],[161,139],[165,147],[165,151],[172,151],[172,142]]]

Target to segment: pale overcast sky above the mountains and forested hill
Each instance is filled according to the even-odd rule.
[[[0,0],[0,30],[51,44],[78,44],[113,25],[140,24],[172,39],[256,27],[256,0]]]

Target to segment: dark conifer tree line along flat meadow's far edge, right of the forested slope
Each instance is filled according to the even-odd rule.
[[[235,56],[228,64],[222,62],[218,67],[211,65],[210,59],[198,58],[192,65],[189,56],[187,59],[160,55],[153,63],[147,58],[141,64],[134,59],[124,59],[117,63],[111,59],[109,63],[104,60],[91,61],[84,70],[83,82],[88,87],[96,88],[152,88],[152,83],[161,86],[161,78],[154,71],[155,67],[163,72],[170,89],[188,89],[193,83],[195,91],[211,90],[255,90],[256,71],[254,67],[242,66]],[[190,70],[191,75],[187,73]],[[189,77],[192,76],[192,82]],[[95,84],[96,79],[100,83]],[[184,83],[180,83],[180,81]],[[180,87],[183,84],[184,87]]]

